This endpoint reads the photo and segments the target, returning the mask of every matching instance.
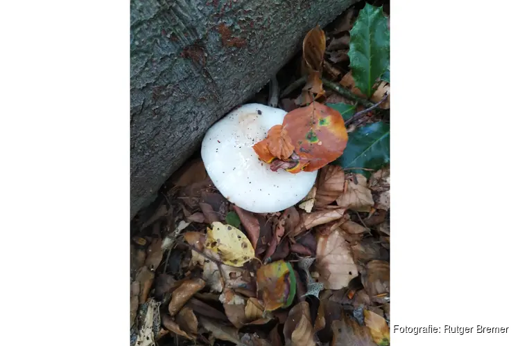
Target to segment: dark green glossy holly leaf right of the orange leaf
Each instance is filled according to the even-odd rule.
[[[379,170],[390,162],[390,125],[374,122],[349,134],[345,152],[336,160],[343,168],[360,167]],[[365,170],[352,170],[370,176]]]

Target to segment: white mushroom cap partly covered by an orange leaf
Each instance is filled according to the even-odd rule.
[[[263,104],[245,104],[216,122],[202,140],[202,161],[215,187],[230,202],[250,212],[278,212],[309,193],[318,172],[272,172],[252,146],[286,111]]]

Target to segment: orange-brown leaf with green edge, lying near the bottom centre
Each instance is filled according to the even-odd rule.
[[[261,266],[257,271],[257,296],[266,311],[288,307],[296,293],[293,266],[284,261]]]

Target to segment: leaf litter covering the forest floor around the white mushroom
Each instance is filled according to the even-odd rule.
[[[390,108],[388,31],[375,39],[356,33],[370,15],[370,30],[381,31],[383,21],[388,30],[380,8],[361,3],[309,31],[305,84],[282,99],[299,116],[263,142],[280,162],[296,163],[294,174],[318,170],[302,201],[248,212],[229,203],[194,158],[164,184],[159,203],[132,220],[131,346],[172,338],[175,345],[389,345],[390,156],[381,113]],[[364,60],[369,46],[375,54]],[[329,77],[359,98],[385,102],[356,118],[366,106],[329,90]],[[343,134],[328,116],[357,119],[346,147],[331,144]],[[309,120],[324,127],[306,128]],[[316,140],[325,145],[311,147]]]

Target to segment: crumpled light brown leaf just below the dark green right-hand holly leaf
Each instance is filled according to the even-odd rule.
[[[362,174],[347,174],[343,191],[336,199],[338,206],[356,212],[370,212],[374,206],[372,191],[367,187],[367,179]]]

